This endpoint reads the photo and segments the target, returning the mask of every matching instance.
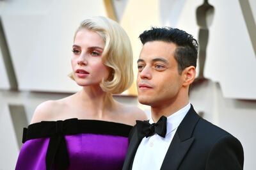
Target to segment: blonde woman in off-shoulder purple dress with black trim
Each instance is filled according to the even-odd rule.
[[[24,128],[16,169],[122,169],[136,107],[112,94],[132,84],[132,49],[124,29],[104,17],[84,20],[74,36],[72,79],[81,91],[47,101]]]

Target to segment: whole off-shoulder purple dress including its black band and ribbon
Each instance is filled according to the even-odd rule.
[[[76,118],[31,124],[15,169],[122,169],[131,128]]]

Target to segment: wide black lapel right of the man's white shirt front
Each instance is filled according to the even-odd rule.
[[[186,114],[185,118],[180,123],[168,151],[164,157],[161,170],[164,169],[178,169],[182,159],[188,152],[191,144],[193,144],[194,137],[193,130],[200,117],[196,114],[193,106]]]

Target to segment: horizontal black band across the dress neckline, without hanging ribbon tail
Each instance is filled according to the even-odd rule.
[[[58,121],[41,121],[23,129],[22,143],[29,139],[52,137],[53,135],[106,134],[128,137],[131,125],[100,120],[78,120],[72,118]]]

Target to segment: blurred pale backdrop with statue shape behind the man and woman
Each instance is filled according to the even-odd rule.
[[[241,141],[244,169],[255,169],[255,0],[0,0],[0,170],[15,168],[22,129],[36,106],[80,89],[68,78],[73,36],[95,15],[127,31],[134,77],[144,30],[171,26],[194,35],[200,52],[190,102]],[[135,85],[115,98],[150,114],[138,104]]]

